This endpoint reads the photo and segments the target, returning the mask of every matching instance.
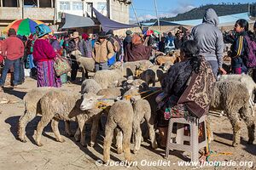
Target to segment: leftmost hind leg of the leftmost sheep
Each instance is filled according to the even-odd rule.
[[[36,111],[28,112],[27,110],[25,111],[23,116],[20,116],[18,125],[18,139],[20,139],[21,142],[26,142],[26,125],[28,122],[31,122],[35,116],[37,116]]]

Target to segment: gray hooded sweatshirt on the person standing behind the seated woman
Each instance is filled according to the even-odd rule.
[[[195,26],[190,39],[195,40],[200,48],[200,54],[208,61],[218,61],[222,67],[224,54],[224,40],[222,32],[218,29],[218,15],[212,8],[208,8],[199,26]]]

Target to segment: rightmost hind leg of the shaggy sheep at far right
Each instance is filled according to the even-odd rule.
[[[248,106],[244,106],[240,111],[240,116],[242,120],[247,125],[247,131],[248,131],[248,144],[253,144],[254,141],[254,131],[255,131],[255,124],[253,122],[253,116],[250,112],[250,109]]]

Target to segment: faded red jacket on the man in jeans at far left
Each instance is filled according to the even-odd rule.
[[[4,40],[2,51],[9,60],[20,59],[20,57],[23,57],[24,55],[24,44],[20,38],[16,36],[10,36]]]

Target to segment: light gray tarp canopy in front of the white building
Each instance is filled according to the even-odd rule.
[[[61,29],[96,26],[95,22],[89,17],[65,13],[64,18],[65,24],[61,27]]]

